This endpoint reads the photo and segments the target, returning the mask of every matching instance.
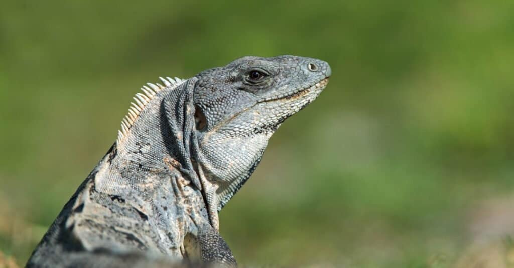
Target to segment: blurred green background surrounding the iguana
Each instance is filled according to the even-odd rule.
[[[240,264],[511,267],[513,14],[473,0],[4,1],[4,261],[25,264],[144,82],[297,54],[333,75],[221,212]]]

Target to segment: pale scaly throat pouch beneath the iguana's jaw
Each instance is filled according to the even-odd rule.
[[[255,105],[239,107],[232,120],[210,131],[195,131],[194,159],[200,181],[206,184],[204,192],[211,195],[207,201],[213,212],[219,212],[248,180],[280,125],[255,131],[255,123],[265,119],[258,112],[247,112]]]

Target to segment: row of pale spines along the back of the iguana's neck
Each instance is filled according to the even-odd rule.
[[[135,102],[131,102],[131,106],[128,108],[127,115],[121,121],[121,129],[118,130],[118,139],[116,139],[116,145],[118,146],[122,139],[127,135],[128,129],[134,125],[134,122],[139,117],[139,113],[144,109],[146,104],[148,104],[157,94],[157,92],[169,88],[173,89],[181,84],[184,80],[180,78],[171,78],[170,76],[166,76],[166,78],[159,77],[164,86],[159,83],[146,83],[141,90],[143,93],[136,93],[133,97]]]

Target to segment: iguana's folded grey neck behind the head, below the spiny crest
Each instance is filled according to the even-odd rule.
[[[137,118],[128,128],[122,125],[122,137],[115,144],[109,164],[124,183],[134,187],[141,180],[169,174],[171,168],[199,186],[189,152],[194,130],[191,88],[195,81],[188,79],[155,92],[139,107]]]

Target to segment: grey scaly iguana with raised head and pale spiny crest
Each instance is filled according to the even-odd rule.
[[[314,101],[330,66],[245,56],[190,79],[160,78],[134,97],[118,138],[66,203],[27,266],[236,266],[218,212],[268,139]]]

